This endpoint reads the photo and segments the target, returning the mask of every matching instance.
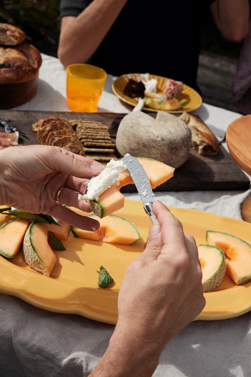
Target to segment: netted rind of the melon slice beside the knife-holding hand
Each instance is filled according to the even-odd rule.
[[[208,248],[208,250],[213,248],[214,250],[217,250],[218,253],[221,255],[221,261],[217,270],[210,277],[208,277],[207,280],[202,281],[203,291],[210,292],[214,290],[215,288],[219,287],[219,285],[222,283],[225,277],[225,273],[226,273],[225,255],[223,251],[216,246],[212,246],[212,245],[199,245],[199,246],[206,247]]]

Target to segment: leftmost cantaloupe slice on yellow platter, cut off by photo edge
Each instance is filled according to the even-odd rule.
[[[0,227],[0,254],[13,258],[20,250],[24,234],[30,222],[23,219],[14,219],[5,222]]]

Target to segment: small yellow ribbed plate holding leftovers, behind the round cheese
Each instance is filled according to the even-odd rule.
[[[140,74],[126,74],[118,77],[112,84],[113,93],[119,97],[119,99],[128,105],[135,107],[137,102],[135,102],[131,97],[126,96],[123,94],[123,90],[128,83],[129,79],[132,78],[133,80],[138,80],[138,76]],[[155,78],[158,81],[157,87],[158,91],[161,93],[164,91],[164,87],[166,85],[166,81],[169,80],[167,77],[157,76],[157,75],[149,75],[149,78]],[[198,109],[202,104],[202,98],[196,90],[184,84],[182,94],[178,97],[178,100],[188,100],[188,103],[183,106],[181,110],[169,110],[169,113],[182,113],[183,111],[193,111]],[[143,107],[143,110],[149,112],[158,112],[158,110],[151,109],[151,107]]]

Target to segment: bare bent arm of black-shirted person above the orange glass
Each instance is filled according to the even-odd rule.
[[[96,51],[125,3],[126,0],[94,0],[78,17],[63,17],[58,49],[62,64],[85,63]]]

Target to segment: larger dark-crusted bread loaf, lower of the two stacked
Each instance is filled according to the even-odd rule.
[[[40,52],[29,43],[0,47],[0,84],[17,84],[32,80],[42,63]]]

